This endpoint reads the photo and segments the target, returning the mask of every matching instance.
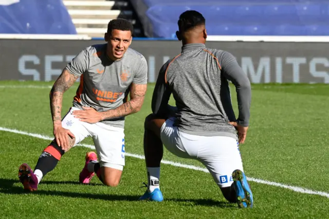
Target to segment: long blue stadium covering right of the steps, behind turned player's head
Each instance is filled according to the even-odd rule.
[[[145,35],[173,38],[179,15],[197,10],[211,35],[329,35],[327,0],[135,0]]]

